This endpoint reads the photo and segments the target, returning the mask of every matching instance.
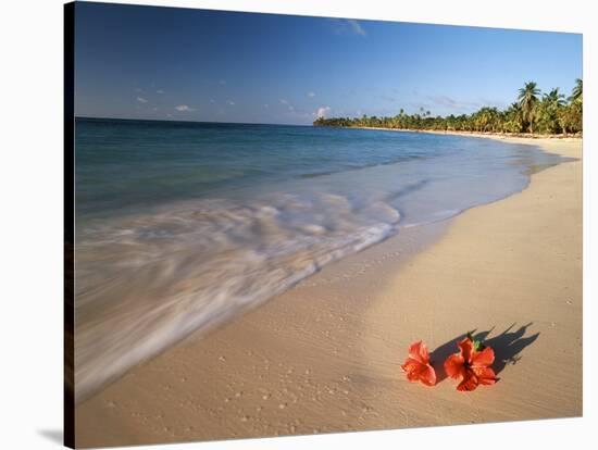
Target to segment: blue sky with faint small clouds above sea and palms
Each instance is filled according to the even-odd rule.
[[[311,124],[569,96],[582,35],[77,2],[75,114]]]

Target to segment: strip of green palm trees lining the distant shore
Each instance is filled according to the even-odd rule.
[[[314,126],[374,127],[445,132],[577,135],[583,128],[583,82],[575,80],[566,100],[558,88],[541,93],[534,82],[520,90],[518,101],[503,111],[484,107],[472,114],[433,116],[429,111],[406,114],[401,109],[394,117],[319,117]]]

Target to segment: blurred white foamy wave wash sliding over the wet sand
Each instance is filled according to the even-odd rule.
[[[337,195],[198,201],[99,222],[77,243],[76,396],[191,332],[389,236],[399,213]]]

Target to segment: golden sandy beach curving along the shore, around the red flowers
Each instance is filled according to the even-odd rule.
[[[134,367],[77,405],[77,447],[581,415],[582,141],[512,140],[576,160],[428,226],[424,248],[400,234]],[[463,393],[440,367],[470,330],[500,379]],[[400,368],[420,339],[435,388]]]

